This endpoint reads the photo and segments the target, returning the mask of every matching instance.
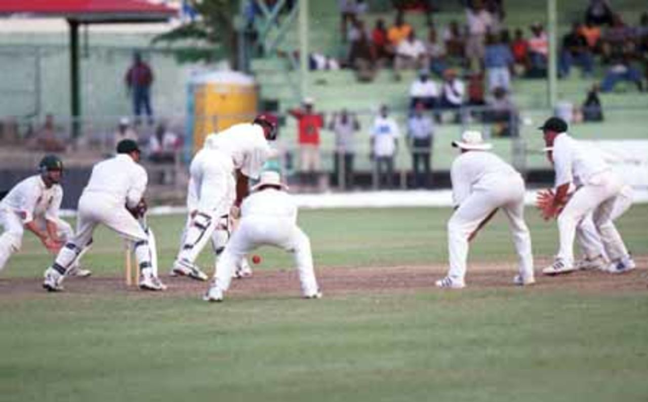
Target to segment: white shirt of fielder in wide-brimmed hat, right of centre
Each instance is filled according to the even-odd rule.
[[[512,175],[519,177],[520,173],[492,152],[464,152],[452,162],[450,169],[454,205],[461,205],[475,190],[496,191]]]

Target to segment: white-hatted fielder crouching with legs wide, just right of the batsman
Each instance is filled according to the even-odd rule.
[[[251,189],[253,193],[241,205],[238,228],[218,259],[214,279],[203,300],[222,302],[237,261],[262,245],[292,252],[303,296],[308,299],[321,298],[313,270],[310,240],[297,226],[297,206],[286,189],[279,173],[263,172],[259,183]]]

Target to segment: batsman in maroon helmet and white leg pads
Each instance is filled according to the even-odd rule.
[[[240,204],[249,193],[249,178],[259,178],[272,154],[268,140],[276,136],[277,123],[269,115],[207,136],[189,167],[189,219],[172,268],[174,274],[207,280],[196,258],[210,237],[216,255],[224,250],[231,220],[238,219]]]

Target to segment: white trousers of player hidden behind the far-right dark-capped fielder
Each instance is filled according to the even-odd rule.
[[[616,198],[610,219],[614,222],[618,217],[632,206],[632,188],[624,186],[621,193]],[[609,259],[605,252],[599,232],[594,225],[594,214],[588,213],[586,217],[576,226],[576,242],[581,248],[581,252],[587,259],[595,259],[599,255]]]

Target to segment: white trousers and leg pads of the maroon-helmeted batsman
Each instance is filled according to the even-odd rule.
[[[220,152],[194,158],[189,171],[187,209],[196,213],[187,219],[176,260],[194,263],[210,238],[214,249],[227,241],[227,216],[234,204],[236,182],[231,157]]]

